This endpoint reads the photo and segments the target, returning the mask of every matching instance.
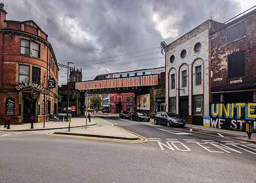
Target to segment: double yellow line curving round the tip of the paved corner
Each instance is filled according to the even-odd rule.
[[[52,135],[52,136],[67,136],[67,137],[72,137],[72,138],[79,138],[79,139],[94,139],[94,140],[102,140],[102,141],[115,141],[115,142],[125,142],[125,143],[141,143],[141,142],[146,142],[147,139],[144,138],[143,136],[136,134],[132,131],[126,130],[124,128],[121,128],[119,126],[116,126],[117,128],[120,128],[124,131],[127,131],[129,133],[132,133],[136,136],[138,136],[138,140],[123,140],[123,139],[110,139],[110,138],[98,138],[98,137],[93,137],[93,136],[79,136],[79,135],[68,135],[68,134],[55,134],[54,132],[46,133],[47,135]]]

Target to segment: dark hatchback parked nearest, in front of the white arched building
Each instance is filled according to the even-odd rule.
[[[174,112],[157,112],[154,118],[154,123],[157,125],[158,123],[164,124],[166,126],[185,126],[186,122],[184,119],[179,117]]]

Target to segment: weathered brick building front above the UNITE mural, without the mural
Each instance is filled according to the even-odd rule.
[[[211,35],[211,101],[252,102],[256,93],[256,10]]]

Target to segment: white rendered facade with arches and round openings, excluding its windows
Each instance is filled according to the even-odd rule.
[[[176,111],[179,111],[179,96],[188,96],[188,115],[191,115],[194,109],[191,108],[192,95],[204,94],[204,116],[209,116],[209,76],[208,76],[208,53],[209,53],[209,24],[205,21],[203,24],[182,36],[181,40],[177,39],[173,43],[167,45],[165,49],[165,64],[166,64],[166,109],[169,109],[169,97],[176,96]],[[202,31],[203,29],[203,31]],[[201,32],[200,32],[201,31]],[[201,50],[194,51],[195,44],[201,43]],[[181,58],[182,50],[186,50],[186,56]],[[170,57],[174,55],[175,61],[170,63]],[[195,83],[195,67],[201,66],[202,84],[196,85]],[[187,87],[182,87],[182,71],[187,70]],[[171,81],[170,75],[175,74],[176,88],[184,89],[170,89]]]

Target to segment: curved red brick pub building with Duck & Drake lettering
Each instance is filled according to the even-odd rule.
[[[48,35],[33,20],[6,20],[0,5],[0,123],[47,121],[57,112],[58,64]]]

